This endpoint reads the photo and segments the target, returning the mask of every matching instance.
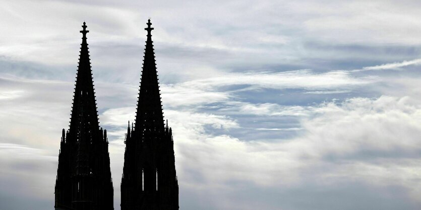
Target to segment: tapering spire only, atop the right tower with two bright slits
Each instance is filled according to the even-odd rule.
[[[159,93],[159,82],[156,71],[155,53],[153,52],[153,42],[151,31],[151,20],[148,20],[148,32],[145,56],[142,67],[142,78],[140,82],[139,100],[135,121],[135,131],[158,131],[164,129],[164,119],[162,114],[161,97]]]

